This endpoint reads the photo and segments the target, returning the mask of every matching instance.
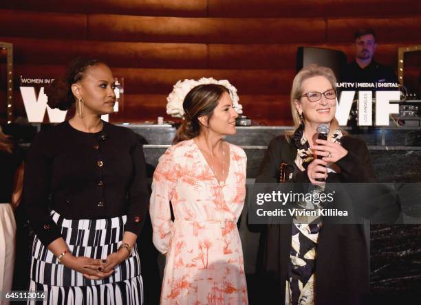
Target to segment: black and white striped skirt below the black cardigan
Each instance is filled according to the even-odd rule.
[[[70,220],[51,212],[74,256],[105,259],[121,244],[127,216]],[[109,278],[88,280],[59,264],[56,256],[35,236],[32,245],[30,291],[45,291],[44,302],[28,304],[143,304],[143,282],[136,243],[131,256]]]

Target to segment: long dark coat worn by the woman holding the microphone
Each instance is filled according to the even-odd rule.
[[[367,146],[360,139],[344,136],[348,153],[336,164],[338,174],[328,174],[327,183],[375,182]],[[279,165],[294,164],[296,147],[284,136],[270,142],[263,158],[257,183],[277,182]],[[310,183],[307,172],[296,172],[292,181]],[[269,302],[285,302],[285,281],[290,264],[292,225],[266,225],[262,230],[257,269],[262,276],[261,289]],[[252,229],[252,228],[250,228]],[[362,304],[369,292],[369,263],[363,225],[324,223],[319,233],[315,264],[315,304]]]

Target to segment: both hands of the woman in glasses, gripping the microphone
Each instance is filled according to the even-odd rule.
[[[326,166],[329,163],[336,163],[341,160],[347,155],[348,150],[339,143],[323,139],[316,139],[316,143],[317,145],[310,146],[314,154],[314,160],[307,167],[307,176],[312,184],[320,185],[323,182],[316,181],[316,179],[327,178]],[[322,156],[322,159],[317,159],[317,156]]]

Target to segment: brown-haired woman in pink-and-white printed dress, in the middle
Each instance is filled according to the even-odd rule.
[[[191,89],[175,145],[153,174],[153,243],[166,255],[161,304],[248,304],[237,229],[246,154],[223,139],[235,133],[231,96],[222,84]]]

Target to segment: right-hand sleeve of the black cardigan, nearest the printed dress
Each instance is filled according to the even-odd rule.
[[[144,221],[146,220],[147,207],[149,201],[149,192],[146,176],[146,162],[144,160],[144,153],[142,144],[138,136],[136,137],[136,144],[131,150],[131,159],[133,161],[133,181],[129,188],[129,207],[127,210],[127,223],[125,231],[131,231],[136,235],[140,234]]]

